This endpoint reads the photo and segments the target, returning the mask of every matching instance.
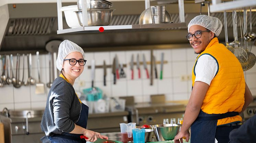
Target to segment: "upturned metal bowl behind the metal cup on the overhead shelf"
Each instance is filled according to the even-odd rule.
[[[173,23],[172,18],[171,18],[170,14],[167,11],[165,11],[164,21],[166,23]],[[144,10],[140,14],[139,24],[152,24],[152,16],[151,16],[150,8]]]

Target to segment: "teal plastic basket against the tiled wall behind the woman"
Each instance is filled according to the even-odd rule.
[[[98,87],[91,87],[83,89],[87,101],[98,101],[102,99],[102,90]]]

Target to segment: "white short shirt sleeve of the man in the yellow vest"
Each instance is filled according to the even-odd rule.
[[[216,60],[207,54],[201,55],[197,59],[195,67],[196,81],[201,81],[210,85],[213,77],[216,75],[218,65]]]

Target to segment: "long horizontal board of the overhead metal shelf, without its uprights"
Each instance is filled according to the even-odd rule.
[[[99,28],[103,27],[104,32],[112,31],[131,31],[131,30],[151,30],[151,29],[172,29],[178,27],[186,27],[186,23],[164,23],[164,24],[143,24],[143,25],[115,25],[115,26],[85,26],[58,30],[57,34],[63,33],[89,33],[100,32]]]

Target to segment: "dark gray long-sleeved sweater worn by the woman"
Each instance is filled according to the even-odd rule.
[[[42,131],[47,136],[71,132],[79,119],[81,104],[73,86],[62,77],[57,77],[48,94]]]

